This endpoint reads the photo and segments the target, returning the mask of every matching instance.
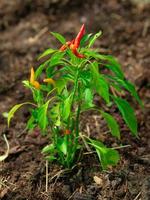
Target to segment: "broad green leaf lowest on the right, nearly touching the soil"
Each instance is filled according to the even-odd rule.
[[[105,147],[97,140],[89,140],[89,144],[93,146],[97,152],[103,169],[107,169],[109,166],[114,166],[118,163],[120,156],[116,150]]]

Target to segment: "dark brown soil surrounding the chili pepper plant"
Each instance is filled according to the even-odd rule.
[[[142,3],[143,2],[143,3]],[[0,154],[6,144],[10,153],[0,163],[0,199],[2,200],[149,200],[150,199],[150,4],[124,0],[1,0],[0,1]],[[146,1],[147,2],[147,1]],[[139,138],[133,138],[114,109],[121,125],[118,142],[107,133],[97,113],[81,117],[81,129],[108,146],[128,145],[119,149],[120,163],[102,171],[96,155],[86,154],[72,170],[57,163],[48,167],[41,154],[46,138],[27,133],[26,108],[17,113],[8,129],[2,113],[16,103],[31,98],[21,84],[29,76],[31,65],[48,47],[59,47],[50,31],[68,39],[82,23],[87,32],[103,31],[96,43],[101,52],[113,54],[122,64],[126,77],[135,83],[145,108],[130,96],[136,109]],[[130,145],[130,146],[129,146]]]

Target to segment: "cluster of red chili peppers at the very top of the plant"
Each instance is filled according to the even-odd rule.
[[[62,47],[59,50],[60,51],[65,51],[67,49],[67,47],[69,47],[71,49],[72,53],[76,57],[85,58],[84,55],[78,53],[78,51],[77,51],[77,49],[78,49],[78,47],[80,45],[80,41],[81,41],[84,33],[85,33],[85,25],[83,24],[81,29],[80,29],[80,31],[79,31],[79,33],[78,33],[78,35],[76,36],[76,38],[71,40],[71,41],[66,42],[66,44],[62,45]]]

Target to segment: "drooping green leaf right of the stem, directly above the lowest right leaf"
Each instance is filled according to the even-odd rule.
[[[111,134],[115,137],[117,137],[118,139],[120,139],[120,130],[119,130],[119,126],[117,121],[115,120],[115,118],[103,111],[100,111],[101,115],[104,117],[104,119],[106,120],[108,127],[111,131]]]

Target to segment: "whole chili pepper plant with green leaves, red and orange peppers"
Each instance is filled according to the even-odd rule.
[[[77,36],[67,42],[61,34],[51,34],[62,46],[49,48],[39,56],[38,59],[44,61],[36,70],[32,67],[29,80],[23,81],[32,92],[33,102],[15,105],[8,113],[8,125],[14,113],[29,104],[27,129],[39,127],[42,135],[49,136],[49,144],[42,150],[46,159],[56,160],[70,168],[77,161],[79,151],[89,146],[95,149],[103,169],[116,165],[119,154],[115,149],[81,133],[80,115],[96,110],[105,119],[112,136],[120,139],[118,122],[109,112],[115,104],[131,134],[137,137],[134,110],[122,98],[124,92],[129,92],[142,106],[136,89],[125,78],[113,56],[93,49],[101,31],[85,34],[83,24]],[[94,103],[95,95],[99,95],[101,105],[105,106],[99,107]]]

